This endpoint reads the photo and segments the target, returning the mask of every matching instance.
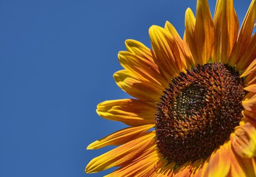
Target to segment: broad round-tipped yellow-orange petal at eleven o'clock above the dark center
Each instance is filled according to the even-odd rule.
[[[177,43],[167,30],[159,26],[151,26],[149,34],[156,58],[155,62],[170,81],[183,69]]]

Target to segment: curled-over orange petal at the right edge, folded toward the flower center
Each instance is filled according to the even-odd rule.
[[[231,142],[235,152],[241,157],[251,158],[256,155],[256,129],[249,122],[236,127],[231,135]]]

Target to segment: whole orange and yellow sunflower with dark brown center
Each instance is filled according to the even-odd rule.
[[[97,113],[129,127],[87,149],[118,146],[92,159],[107,176],[256,176],[255,0],[239,31],[232,0],[207,0],[185,16],[181,39],[166,22],[152,26],[152,50],[126,40],[118,86],[134,99],[100,103]]]

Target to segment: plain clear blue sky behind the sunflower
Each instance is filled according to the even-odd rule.
[[[235,0],[240,24],[250,0]],[[210,1],[213,15],[215,1]],[[87,163],[112,149],[86,150],[124,128],[96,112],[129,97],[113,73],[131,38],[151,47],[148,29],[170,21],[184,33],[193,0],[0,0],[0,176],[103,176]]]

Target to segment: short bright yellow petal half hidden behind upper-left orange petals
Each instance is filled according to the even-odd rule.
[[[127,39],[125,40],[125,46],[128,52],[135,54],[139,57],[147,59],[154,63],[154,59],[151,53],[151,50],[143,45],[143,43],[133,40]]]

